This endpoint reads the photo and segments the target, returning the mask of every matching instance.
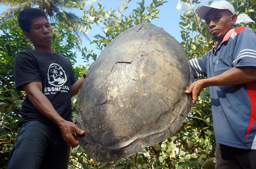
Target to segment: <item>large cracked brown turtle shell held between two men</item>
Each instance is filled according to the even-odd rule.
[[[150,23],[118,35],[102,51],[80,89],[76,125],[86,153],[98,161],[129,157],[180,129],[194,81],[180,43]]]

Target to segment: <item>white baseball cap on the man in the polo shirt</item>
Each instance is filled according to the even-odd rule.
[[[226,9],[226,10],[230,11],[232,14],[235,14],[235,8],[231,4],[229,4],[229,2],[218,1],[218,2],[213,2],[210,6],[207,6],[207,5],[200,6],[200,8],[197,11],[197,15],[199,16],[199,18],[205,20],[207,12],[212,8]]]

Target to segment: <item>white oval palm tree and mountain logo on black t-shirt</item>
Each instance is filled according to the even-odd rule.
[[[48,69],[48,82],[52,86],[61,87],[67,81],[65,71],[57,63],[52,63]]]

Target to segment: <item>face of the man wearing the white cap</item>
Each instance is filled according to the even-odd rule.
[[[228,10],[211,9],[206,14],[206,28],[214,40],[221,42],[226,33],[233,28],[231,13]]]

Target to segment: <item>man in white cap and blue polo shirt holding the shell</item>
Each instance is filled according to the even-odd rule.
[[[195,81],[186,93],[193,104],[210,88],[216,138],[216,168],[256,168],[256,35],[233,29],[237,15],[226,1],[201,6],[197,14],[217,40],[213,49],[190,60]]]

